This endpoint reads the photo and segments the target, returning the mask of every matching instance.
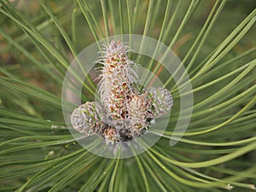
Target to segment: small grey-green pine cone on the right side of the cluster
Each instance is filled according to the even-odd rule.
[[[148,91],[152,100],[155,118],[159,118],[171,110],[173,98],[169,90],[163,87],[150,87]]]

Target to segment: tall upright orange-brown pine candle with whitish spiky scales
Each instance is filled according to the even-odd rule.
[[[131,100],[131,84],[135,82],[136,73],[131,68],[133,61],[128,59],[128,47],[121,42],[112,41],[105,45],[99,63],[103,64],[99,93],[109,125],[125,123]]]

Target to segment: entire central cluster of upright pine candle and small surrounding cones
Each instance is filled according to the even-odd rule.
[[[103,48],[99,95],[101,102],[86,102],[74,109],[71,123],[86,136],[102,136],[107,143],[140,137],[156,118],[172,108],[172,95],[165,88],[137,90],[137,74],[129,60],[129,48],[112,41]]]

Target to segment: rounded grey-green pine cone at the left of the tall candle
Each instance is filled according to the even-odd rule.
[[[86,102],[73,110],[71,124],[76,131],[84,133],[86,136],[92,136],[104,129],[106,124],[97,113],[97,105],[99,104],[96,102]]]

